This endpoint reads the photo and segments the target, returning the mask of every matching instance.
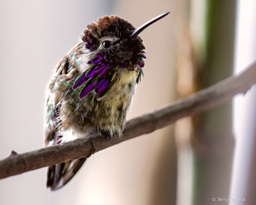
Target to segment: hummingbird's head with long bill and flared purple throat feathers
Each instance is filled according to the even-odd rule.
[[[98,98],[102,97],[112,87],[119,69],[141,72],[146,57],[143,40],[138,35],[168,14],[161,14],[137,29],[117,16],[99,18],[88,24],[82,40],[91,56],[87,62],[90,68],[76,79],[73,86],[76,89],[86,83],[79,97],[85,97],[92,90]]]

